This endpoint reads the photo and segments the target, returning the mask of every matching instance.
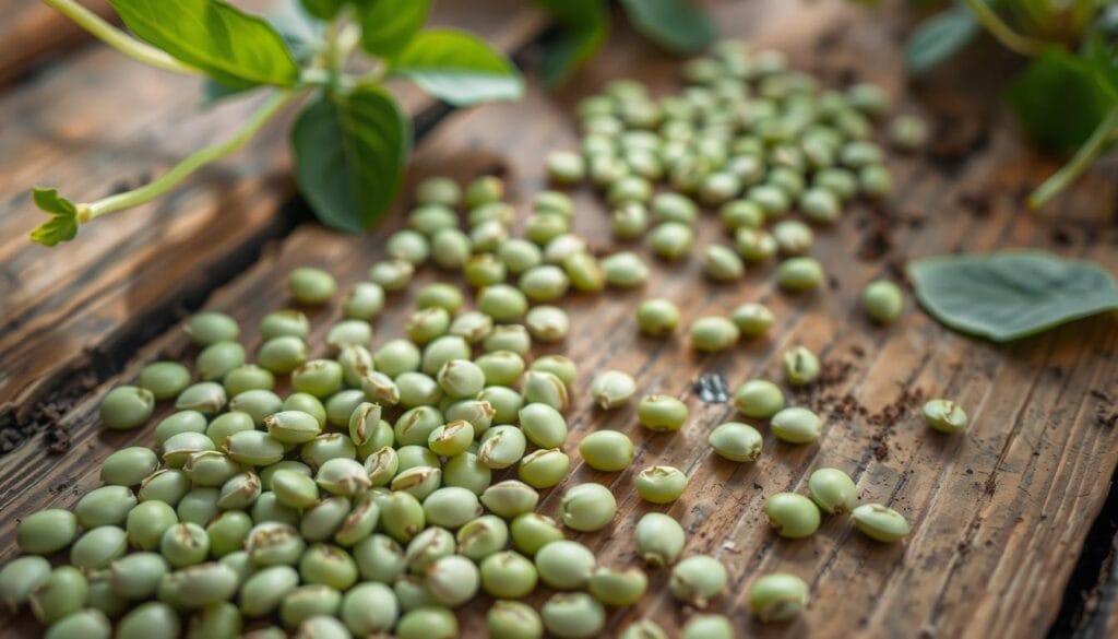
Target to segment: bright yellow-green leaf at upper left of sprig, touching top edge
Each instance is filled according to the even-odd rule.
[[[231,87],[291,86],[299,65],[266,21],[221,0],[110,0],[141,39]]]

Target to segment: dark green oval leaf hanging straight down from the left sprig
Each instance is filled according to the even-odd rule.
[[[388,210],[411,148],[411,121],[380,87],[323,95],[291,130],[295,179],[319,219],[357,233]]]

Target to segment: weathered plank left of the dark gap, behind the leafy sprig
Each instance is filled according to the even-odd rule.
[[[544,17],[520,0],[442,2],[432,22],[514,51]],[[435,105],[413,86],[397,88],[414,115]],[[233,134],[259,104],[203,110],[198,101],[197,79],[107,47],[91,47],[0,96],[0,417],[17,408],[27,417],[41,389],[77,367],[103,366],[101,354],[121,344],[153,337],[152,311],[165,317],[203,294],[216,273],[238,272],[266,241],[290,231],[291,216],[276,213],[293,187],[285,126],[275,123],[237,158],[167,198],[82,228],[78,242],[51,251],[27,239],[42,222],[28,197],[32,186],[58,186],[76,201],[135,187]]]

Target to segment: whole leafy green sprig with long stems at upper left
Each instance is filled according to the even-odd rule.
[[[411,122],[385,81],[406,78],[455,106],[523,94],[517,68],[477,36],[423,28],[430,0],[301,0],[274,24],[224,0],[110,0],[132,35],[76,0],[42,1],[136,60],[207,78],[207,101],[268,94],[231,138],[142,187],[84,203],[34,189],[50,219],[31,239],[47,246],[73,239],[80,225],[103,215],[160,197],[241,149],[293,104],[301,105],[291,128],[299,189],[323,224],[356,233],[388,209],[411,149]]]

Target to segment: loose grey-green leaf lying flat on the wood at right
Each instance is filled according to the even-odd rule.
[[[1010,341],[1118,309],[1118,285],[1090,262],[1041,251],[929,257],[909,264],[920,306],[957,331]]]

